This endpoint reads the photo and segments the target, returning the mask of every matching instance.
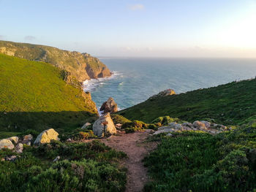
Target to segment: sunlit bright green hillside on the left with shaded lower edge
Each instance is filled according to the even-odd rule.
[[[91,95],[50,64],[0,54],[0,131],[72,128],[94,117]]]

